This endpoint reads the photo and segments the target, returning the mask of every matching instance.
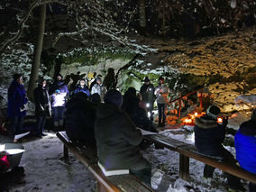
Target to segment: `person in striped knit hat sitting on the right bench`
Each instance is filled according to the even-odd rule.
[[[224,118],[223,123],[217,123],[217,117],[220,114],[220,108],[215,105],[210,105],[206,110],[206,115],[201,116],[195,121],[195,145],[197,151],[200,153],[216,158],[217,160],[224,160],[236,163],[230,151],[227,151],[222,143],[225,137],[225,127],[228,119]],[[205,165],[204,177],[212,178],[215,168]],[[242,189],[239,178],[226,173],[228,185],[231,190]]]

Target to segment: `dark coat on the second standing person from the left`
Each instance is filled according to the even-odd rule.
[[[42,87],[41,85],[36,87],[33,91],[34,104],[35,104],[35,114],[37,116],[47,116],[50,115],[50,96],[48,89]]]

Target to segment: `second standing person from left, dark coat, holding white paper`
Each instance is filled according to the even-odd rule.
[[[43,133],[44,126],[46,123],[46,116],[49,116],[51,114],[50,96],[46,84],[46,80],[41,79],[38,87],[36,87],[33,91],[35,115],[37,118],[36,135],[38,137],[46,136],[46,134]]]

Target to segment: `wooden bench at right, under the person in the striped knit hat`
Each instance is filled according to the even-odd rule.
[[[167,148],[179,153],[179,177],[182,179],[187,180],[189,177],[189,158],[192,158],[217,169],[222,169],[224,172],[230,173],[238,178],[256,183],[256,175],[242,169],[236,164],[206,157],[200,154],[194,145],[180,142],[160,134],[145,135],[144,138],[154,142],[158,147]]]

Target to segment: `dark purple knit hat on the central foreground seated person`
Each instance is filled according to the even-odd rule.
[[[105,93],[104,101],[106,104],[113,104],[121,107],[123,104],[123,96],[115,89],[110,89]]]

